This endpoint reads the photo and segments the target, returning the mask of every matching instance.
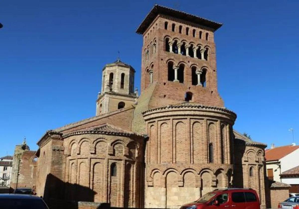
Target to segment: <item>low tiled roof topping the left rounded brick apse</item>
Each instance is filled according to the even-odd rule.
[[[64,135],[62,135],[62,137],[68,137],[68,136],[79,135],[79,134],[89,134],[89,133],[107,134],[107,135],[116,135],[116,136],[132,136],[132,135],[143,136],[143,135],[136,134],[134,132],[122,130],[118,127],[114,127],[109,124],[102,124],[96,127],[83,128],[70,133],[65,133]]]

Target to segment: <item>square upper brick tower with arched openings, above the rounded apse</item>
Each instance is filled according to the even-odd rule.
[[[155,83],[154,106],[186,101],[223,107],[214,43],[221,25],[154,6],[136,31],[143,35],[141,92]]]

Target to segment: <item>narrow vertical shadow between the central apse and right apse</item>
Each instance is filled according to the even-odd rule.
[[[234,171],[234,187],[243,188],[243,166],[242,166],[242,159],[245,153],[245,142],[241,139],[234,140],[234,164],[235,164],[235,171]]]

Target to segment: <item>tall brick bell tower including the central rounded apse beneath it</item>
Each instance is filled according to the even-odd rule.
[[[143,35],[135,111],[148,135],[145,208],[180,208],[232,184],[236,114],[217,90],[214,32],[221,25],[155,5],[136,31]]]

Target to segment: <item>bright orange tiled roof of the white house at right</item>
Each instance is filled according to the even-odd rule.
[[[268,162],[268,161],[279,160],[279,159],[283,158],[284,156],[287,156],[289,153],[297,150],[298,148],[299,148],[299,146],[287,145],[287,146],[267,149],[267,150],[265,150],[266,161]]]

